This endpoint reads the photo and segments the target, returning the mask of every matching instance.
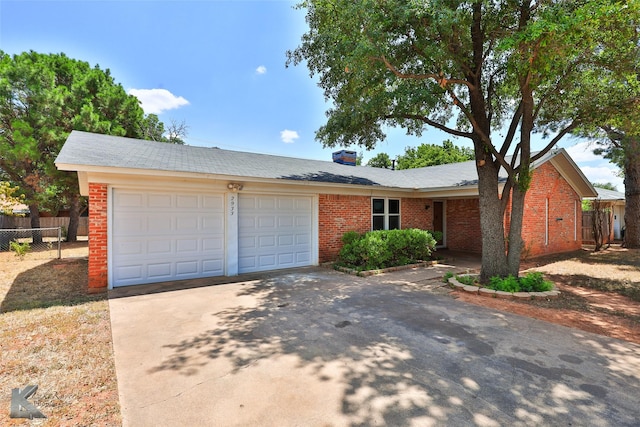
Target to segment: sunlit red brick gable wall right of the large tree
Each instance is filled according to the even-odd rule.
[[[549,201],[549,239],[545,244],[545,201]],[[523,256],[578,250],[582,246],[580,196],[549,162],[533,173],[524,205]],[[560,219],[561,218],[561,219]],[[576,221],[577,219],[577,221]]]

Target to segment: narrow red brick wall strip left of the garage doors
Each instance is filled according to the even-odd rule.
[[[89,183],[89,292],[107,284],[107,185]]]

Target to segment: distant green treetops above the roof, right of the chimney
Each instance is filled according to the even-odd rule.
[[[473,150],[458,147],[445,140],[442,145],[421,144],[418,147],[407,147],[403,155],[398,156],[398,169],[423,168],[426,166],[444,165],[447,163],[473,160]]]

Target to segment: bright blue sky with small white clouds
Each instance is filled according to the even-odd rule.
[[[285,67],[286,51],[307,29],[295,3],[0,0],[0,49],[63,52],[109,68],[146,113],[165,123],[184,120],[190,145],[329,160],[334,149],[314,139],[329,104],[306,67]],[[435,130],[417,139],[389,129],[364,159],[447,138]],[[565,139],[560,146],[591,181],[624,191],[616,168],[590,154],[586,141]]]

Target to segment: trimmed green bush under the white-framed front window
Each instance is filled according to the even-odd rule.
[[[429,259],[436,240],[424,230],[354,231],[342,236],[337,264],[355,270],[378,270]]]

